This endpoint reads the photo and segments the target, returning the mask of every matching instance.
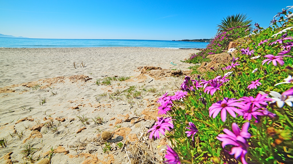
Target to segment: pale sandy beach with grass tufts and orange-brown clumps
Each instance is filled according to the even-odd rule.
[[[51,148],[52,164],[162,163],[168,140],[147,133],[156,100],[178,90],[193,66],[180,60],[197,52],[0,48],[0,163],[48,163]]]

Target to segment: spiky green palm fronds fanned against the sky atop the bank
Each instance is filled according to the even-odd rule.
[[[217,26],[218,32],[217,34],[226,31],[229,28],[237,27],[237,26],[247,26],[248,28],[251,27],[252,20],[246,20],[247,16],[246,14],[243,15],[240,13],[236,15],[229,15],[222,22]]]

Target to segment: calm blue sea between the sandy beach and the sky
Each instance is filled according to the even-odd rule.
[[[206,48],[208,43],[187,41],[126,40],[126,39],[33,39],[0,37],[0,47],[52,48],[52,47],[157,47]]]

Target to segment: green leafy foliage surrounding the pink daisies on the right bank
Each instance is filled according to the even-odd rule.
[[[291,14],[289,11],[282,13]],[[280,19],[277,23],[281,24],[279,28],[263,29],[256,25],[254,30],[256,34],[244,38],[245,42],[237,47],[236,57],[239,59],[234,61],[234,64],[238,62],[239,65],[219,72],[207,71],[201,77],[202,80],[208,81],[215,77],[223,77],[224,74],[230,72],[231,74],[226,76],[229,81],[220,86],[220,90],[216,90],[211,95],[207,93],[206,88],[196,88],[193,85],[194,90],[188,90],[188,95],[183,102],[173,102],[172,110],[167,114],[173,119],[174,129],[170,133],[165,132],[165,135],[178,153],[181,163],[240,163],[240,157],[235,159],[234,155],[229,154],[235,145],[227,144],[223,148],[222,142],[217,137],[219,134],[226,133],[227,130],[232,131],[232,123],[236,123],[241,128],[245,122],[250,123],[248,133],[251,135],[247,139],[249,146],[245,155],[248,163],[293,163],[293,107],[289,102],[292,100],[292,94],[279,97],[280,101],[289,102],[284,103],[282,107],[278,107],[280,102],[268,100],[268,104],[263,104],[258,108],[258,110],[265,110],[268,114],[257,115],[256,118],[245,119],[241,114],[236,114],[234,118],[227,112],[225,113],[226,121],[223,122],[222,111],[215,116],[210,116],[209,111],[213,104],[220,103],[219,101],[225,97],[240,102],[239,99],[244,96],[255,98],[262,93],[272,97],[272,91],[282,94],[293,87],[292,81],[281,83],[285,78],[293,76],[292,48],[289,50],[284,48],[285,45],[293,44],[293,28],[290,28],[293,27],[293,20],[292,18]],[[274,24],[275,27],[278,27],[277,23]],[[282,32],[284,29],[286,32]],[[285,37],[287,39],[284,39]],[[255,52],[252,55],[243,54],[241,50],[245,52],[246,48]],[[277,55],[288,56],[282,57],[284,64],[276,62],[273,65],[272,62],[263,62],[268,59],[266,56],[268,54],[274,55],[275,58]],[[260,80],[261,84],[256,88],[249,88],[248,85],[256,80]],[[276,85],[277,83],[281,84]],[[277,97],[274,100],[279,101]],[[261,112],[258,110],[255,112]],[[251,114],[253,110],[249,108],[246,112]],[[187,137],[185,133],[189,131],[187,129],[189,122],[192,122],[198,129],[194,139],[192,136]]]

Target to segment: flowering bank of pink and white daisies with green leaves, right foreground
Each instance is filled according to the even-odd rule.
[[[170,140],[165,163],[292,163],[292,9],[272,27],[255,23],[253,35],[238,34],[243,42],[228,50],[235,57],[221,71],[186,76],[159,98],[161,116],[148,132]]]

